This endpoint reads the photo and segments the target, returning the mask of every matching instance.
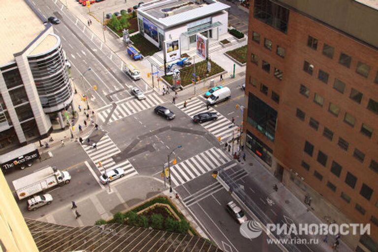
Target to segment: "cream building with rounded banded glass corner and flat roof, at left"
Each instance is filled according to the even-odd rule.
[[[73,100],[61,39],[29,0],[1,0],[0,150],[45,138]]]

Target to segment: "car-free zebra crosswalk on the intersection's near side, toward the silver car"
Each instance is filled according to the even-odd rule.
[[[230,160],[231,158],[227,157],[221,149],[213,147],[172,166],[170,168],[172,183],[175,186],[187,183]]]

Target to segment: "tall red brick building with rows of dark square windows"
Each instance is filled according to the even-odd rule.
[[[370,223],[347,242],[377,252],[378,1],[250,3],[246,146],[320,219]]]

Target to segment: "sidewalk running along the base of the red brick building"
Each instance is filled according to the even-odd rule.
[[[234,143],[235,151],[238,149],[236,141]],[[269,172],[264,166],[260,163],[258,158],[248,147],[244,148],[246,153],[246,161],[243,161],[241,157],[241,162],[239,165],[244,168],[249,173],[249,178],[253,180],[255,184],[266,194],[268,195],[277,205],[279,205],[286,213],[290,216],[289,218],[295,224],[320,224],[323,223],[319,218],[315,216],[313,212],[308,209],[308,206],[305,205],[301,200],[299,200],[295,195],[293,195],[282,183],[280,183],[277,178]],[[243,151],[241,152],[243,153]],[[230,153],[229,153],[230,154]],[[243,155],[243,154],[242,154]],[[241,155],[241,156],[242,156]],[[273,190],[273,186],[278,185],[278,191]],[[324,243],[324,235],[311,236],[311,238],[317,238],[319,240],[318,245],[316,246],[316,252],[333,252],[331,248],[335,242],[335,238],[332,235],[328,235],[328,243]],[[351,248],[347,246],[346,243],[342,241],[341,237],[340,245],[338,246],[338,251],[340,252],[353,252]]]

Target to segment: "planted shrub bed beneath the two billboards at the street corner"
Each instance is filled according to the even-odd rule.
[[[197,77],[199,77],[200,80],[203,80],[205,78],[211,77],[213,75],[219,74],[224,71],[224,69],[215,63],[214,61],[210,60],[211,62],[211,72],[208,74],[207,73],[207,65],[206,65],[206,60],[202,60],[198,63],[195,63],[195,74]],[[193,65],[186,66],[182,69],[180,69],[180,77],[181,77],[181,85],[186,86],[189,84],[192,84],[192,78],[193,78]],[[208,74],[208,76],[207,76]],[[163,76],[163,79],[168,83],[172,84],[172,75],[165,75]]]

